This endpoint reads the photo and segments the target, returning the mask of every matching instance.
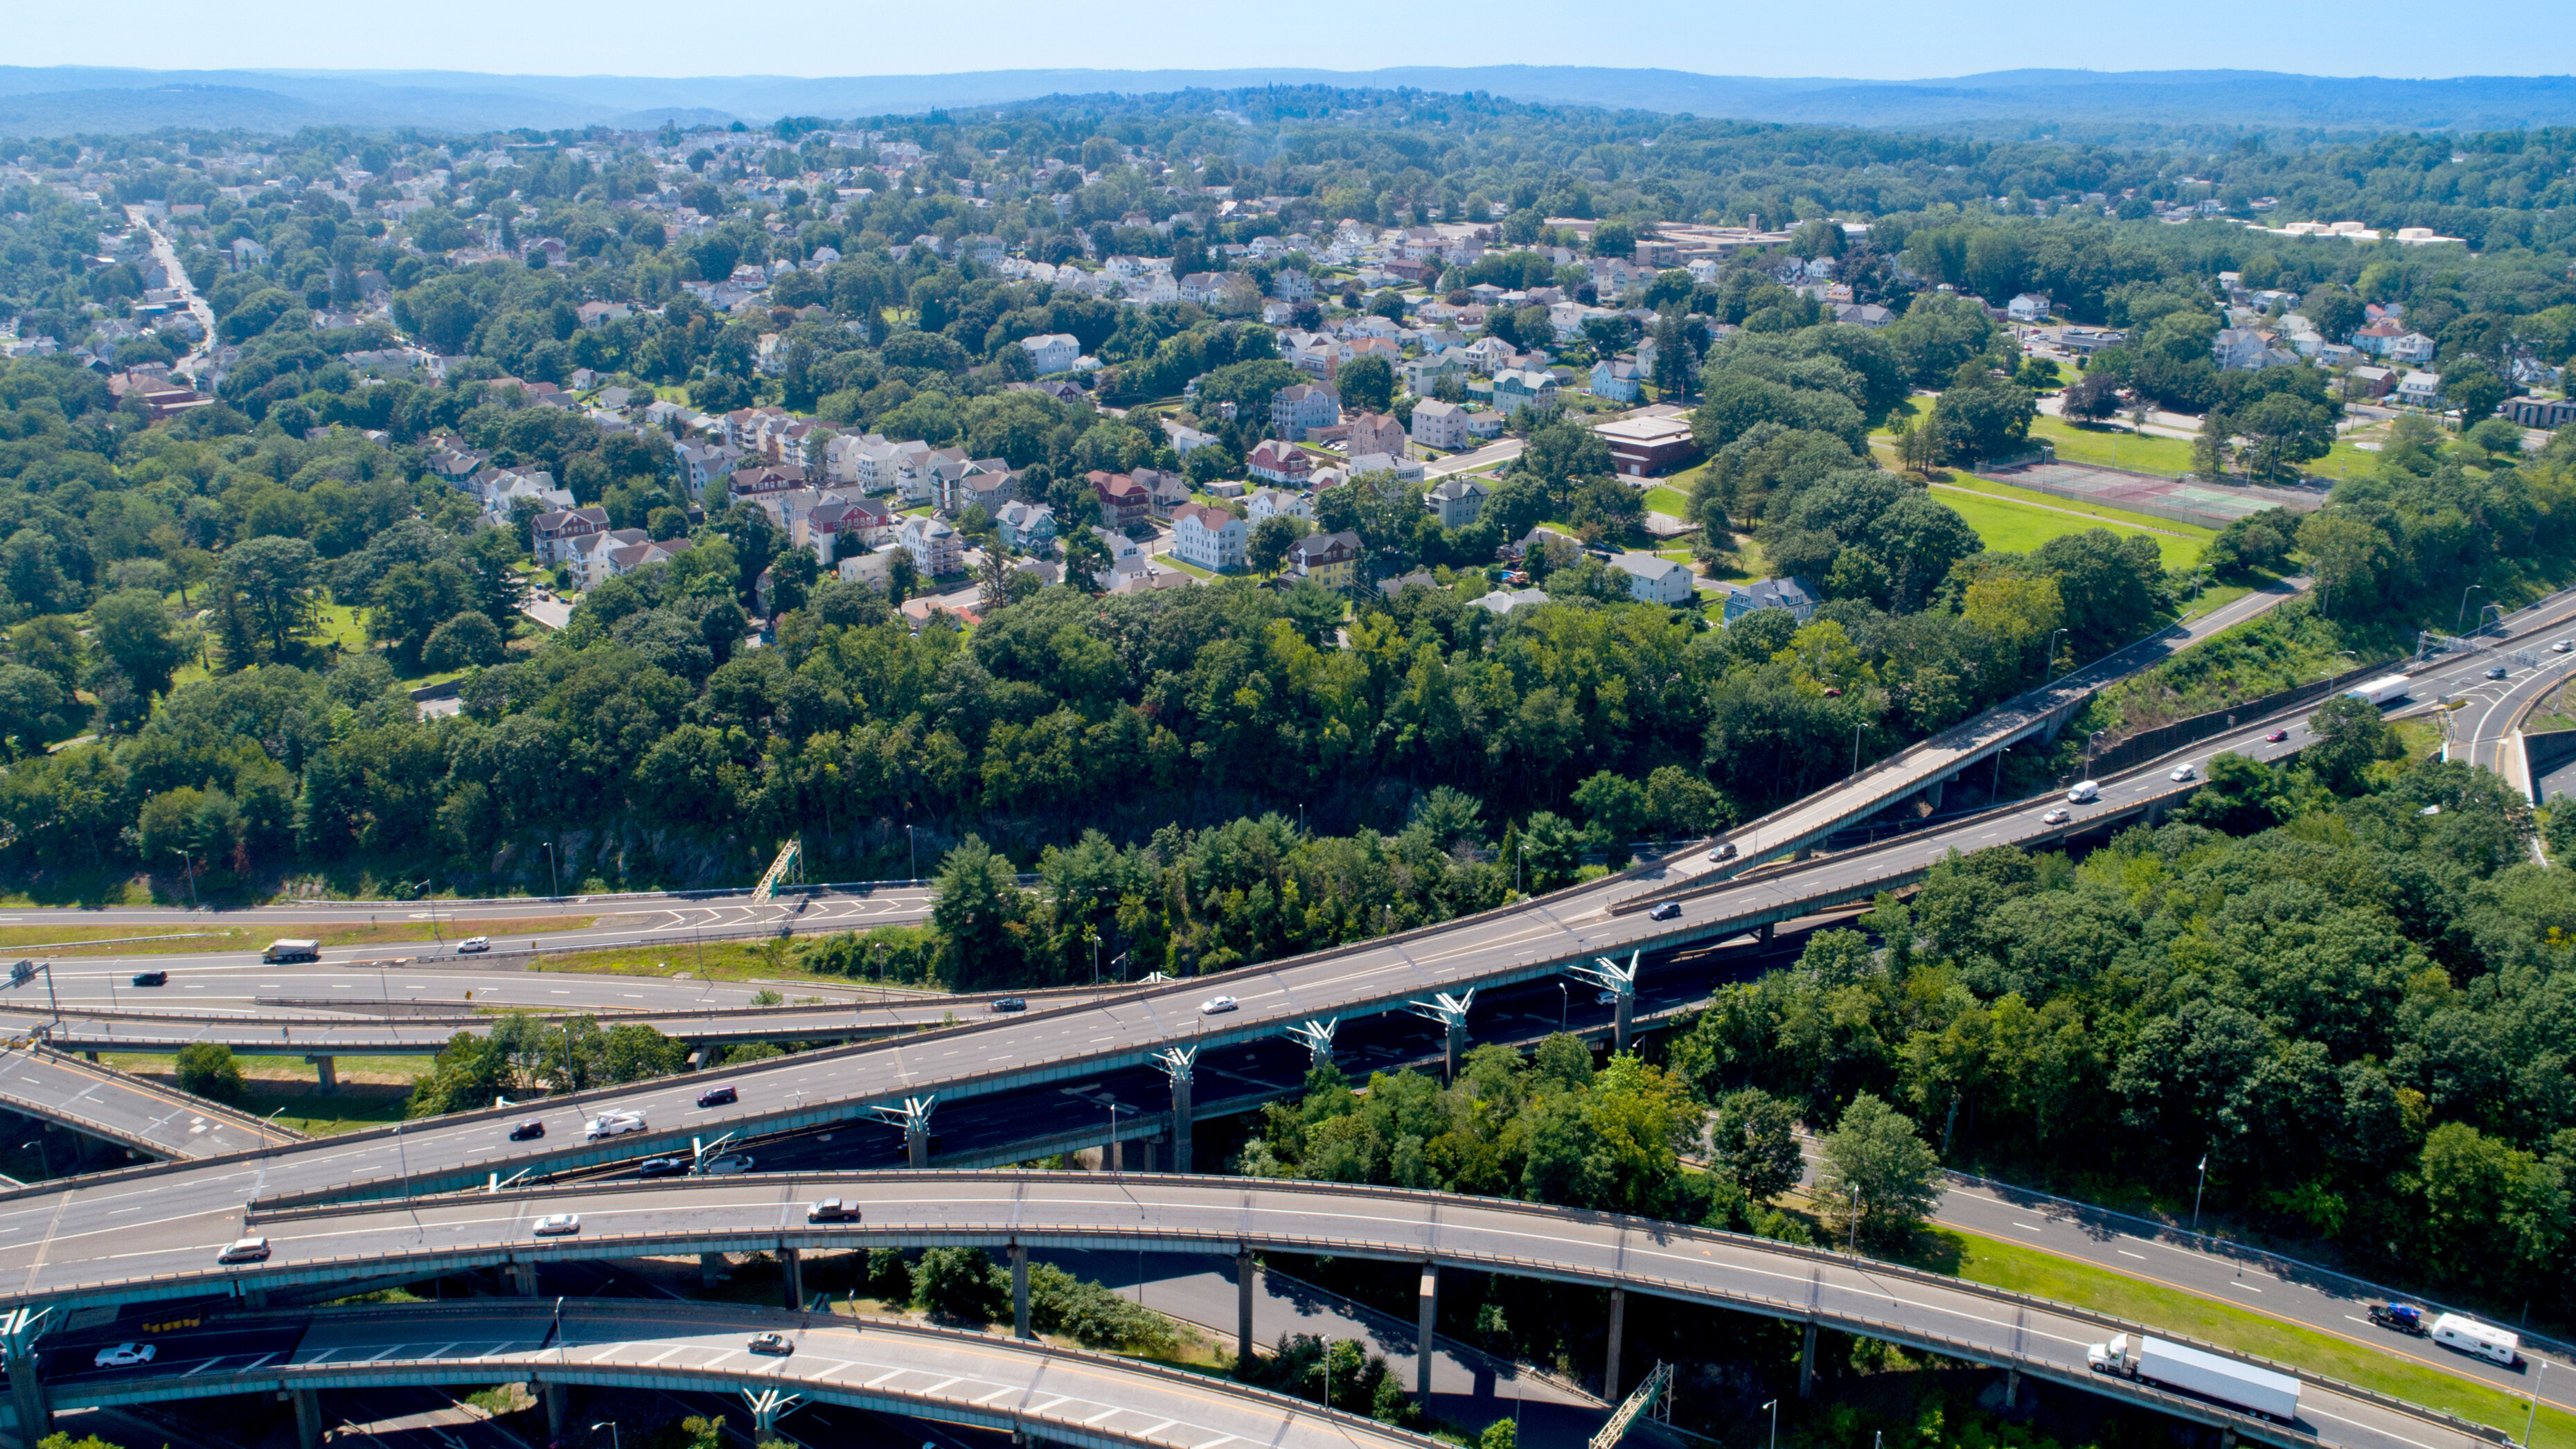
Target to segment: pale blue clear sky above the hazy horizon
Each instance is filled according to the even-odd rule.
[[[484,69],[523,75],[922,75],[1023,67],[1659,64],[1705,75],[1911,80],[2017,67],[2566,75],[2576,26],[2527,0],[2401,15],[2349,0],[618,0],[319,5],[28,3],[10,64]],[[113,18],[108,18],[113,15]]]

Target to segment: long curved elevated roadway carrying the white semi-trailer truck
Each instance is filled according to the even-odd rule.
[[[842,1197],[863,1223],[806,1223],[806,1204]],[[533,1225],[577,1212],[580,1233],[538,1238]],[[0,1223],[5,1230],[5,1223]],[[209,1292],[258,1300],[286,1287],[381,1279],[389,1264],[435,1271],[649,1253],[770,1251],[788,1295],[804,1300],[801,1259],[814,1251],[987,1246],[1015,1264],[1028,1248],[1296,1251],[1422,1264],[1427,1292],[1440,1269],[1476,1269],[1613,1289],[1605,1382],[1618,1387],[1625,1292],[1651,1292],[1739,1313],[1839,1328],[2038,1380],[2107,1392],[2179,1418],[2272,1444],[2349,1449],[2468,1449],[2494,1444],[2465,1421],[2300,1372],[2300,1418],[2272,1423],[2174,1392],[2105,1380],[2084,1346],[2146,1325],[1986,1289],[1960,1279],[1641,1217],[1528,1202],[1311,1181],[1103,1174],[866,1174],[824,1179],[734,1179],[621,1184],[616,1189],[497,1192],[412,1204],[250,1212],[273,1256],[219,1266],[216,1251],[245,1230],[242,1215],[162,1215],[152,1207],[113,1230],[113,1243],[57,1223],[36,1243],[10,1233],[0,1248],[0,1302],[157,1302]],[[523,1277],[520,1282],[531,1282]],[[1244,1279],[1249,1287],[1249,1279]],[[1025,1289],[1023,1289],[1025,1292]],[[1249,1295],[1244,1295],[1249,1302]],[[1425,1307],[1435,1318],[1435,1307]],[[433,1341],[448,1331],[399,1328]],[[631,1331],[621,1328],[623,1341]],[[173,1356],[175,1359],[175,1356]],[[801,1354],[799,1354],[801,1359]],[[1808,1367],[1814,1333],[1808,1336]],[[2295,1367],[2272,1364],[2280,1372]],[[956,1369],[951,1369],[956,1372]],[[196,1374],[185,1374],[196,1377]],[[1162,1410],[1157,1410],[1162,1413]],[[1236,1431],[1239,1434],[1239,1431]]]

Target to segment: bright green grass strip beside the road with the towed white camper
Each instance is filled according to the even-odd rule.
[[[2061,1259],[2058,1253],[2045,1253],[2022,1243],[2002,1243],[1976,1233],[1937,1228],[1924,1233],[1917,1241],[1914,1253],[1904,1261],[1932,1271],[1958,1274],[1968,1282],[2053,1297],[2058,1302],[2151,1323],[2156,1328],[2169,1328],[2210,1343],[2226,1343],[2228,1349],[2298,1364],[2318,1374],[2372,1387],[2427,1408],[2450,1410],[2460,1418],[2473,1418],[2514,1434],[2522,1431],[2522,1421],[2530,1413],[2527,1398],[2465,1380],[2447,1367],[2439,1367],[2439,1361],[2432,1359],[2437,1349],[2424,1349],[2424,1356],[2419,1359],[2411,1351],[2360,1343],[2336,1333],[2287,1323],[2267,1313],[2251,1313],[2233,1302],[2202,1297],[2197,1292],[2151,1284],[2146,1279],[2076,1259]],[[2550,1449],[2576,1449],[2576,1416],[2543,1405],[2540,1426],[2535,1431],[2535,1446],[2537,1444],[2548,1444]]]

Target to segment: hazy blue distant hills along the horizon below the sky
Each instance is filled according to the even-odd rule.
[[[2576,124],[2576,77],[2378,80],[2257,69],[2004,69],[1950,80],[1770,80],[1610,67],[1391,69],[984,69],[853,77],[479,75],[443,69],[116,69],[0,67],[0,134],[155,131],[162,126],[683,126],[778,116],[889,116],[1005,106],[1043,95],[1151,95],[1252,85],[1489,90],[1551,100],[1837,126],[1976,134],[2154,136],[2184,129],[2483,131]]]

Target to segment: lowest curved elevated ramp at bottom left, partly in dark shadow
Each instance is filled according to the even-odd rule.
[[[747,1349],[783,1333],[793,1354]],[[82,1336],[46,1354],[46,1410],[173,1403],[188,1398],[289,1395],[299,1441],[322,1441],[319,1395],[402,1385],[531,1382],[562,1436],[577,1385],[636,1392],[742,1395],[760,1431],[811,1403],[837,1403],[1020,1431],[1097,1449],[1427,1449],[1432,1441],[1285,1395],[1051,1349],[992,1333],[889,1320],[760,1313],[721,1305],[572,1300],[482,1300],[227,1315],[198,1331],[155,1338],[139,1369],[93,1369]],[[28,1408],[13,1395],[10,1428]],[[788,1418],[793,1423],[793,1418]],[[31,1434],[18,1434],[33,1441]]]

